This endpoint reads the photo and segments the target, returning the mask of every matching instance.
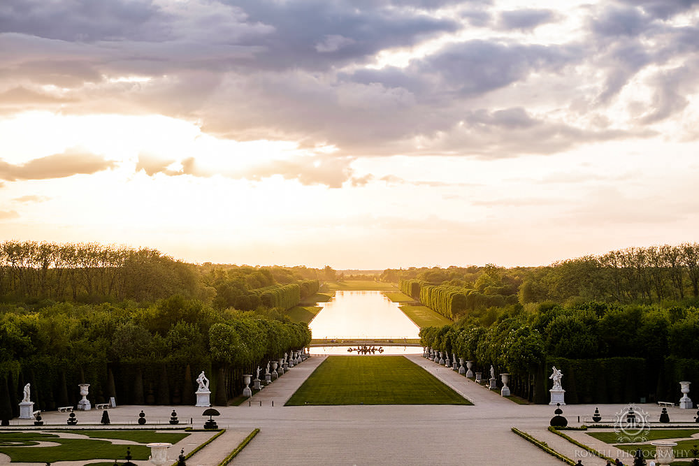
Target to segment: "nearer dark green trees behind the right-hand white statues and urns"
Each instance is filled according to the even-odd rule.
[[[423,328],[421,343],[512,374],[513,393],[547,401],[555,365],[566,402],[675,400],[679,380],[699,378],[695,307],[581,303],[510,305]],[[484,375],[484,377],[486,377]]]

